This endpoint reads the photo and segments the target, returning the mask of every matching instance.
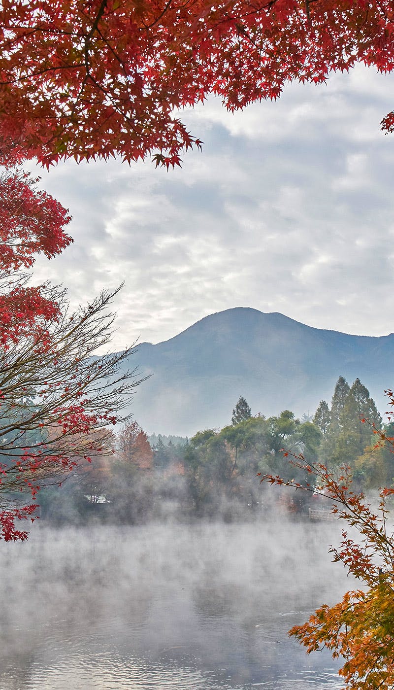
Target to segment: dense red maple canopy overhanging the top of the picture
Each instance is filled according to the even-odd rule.
[[[0,130],[15,159],[168,168],[201,145],[180,108],[237,110],[357,62],[393,70],[391,0],[4,0]]]

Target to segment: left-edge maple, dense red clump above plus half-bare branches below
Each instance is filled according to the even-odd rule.
[[[92,356],[110,339],[117,290],[70,311],[66,291],[31,286],[26,271],[72,242],[66,209],[17,170],[0,176],[0,538],[26,539],[37,491],[60,482],[80,457],[105,453],[139,383],[124,370],[132,348]],[[95,432],[95,433],[93,433]],[[26,504],[26,493],[33,503]],[[20,496],[22,500],[17,500]]]

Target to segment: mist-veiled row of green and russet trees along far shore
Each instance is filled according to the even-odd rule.
[[[244,397],[232,414],[230,409],[228,426],[201,430],[190,439],[148,437],[137,421],[129,422],[111,434],[111,455],[79,462],[61,489],[41,487],[42,522],[249,520],[274,507],[306,518],[310,508],[324,509],[324,497],[311,491],[269,491],[257,477],[269,473],[285,481],[304,481],[284,451],[302,454],[334,473],[346,464],[357,491],[377,492],[380,486],[393,485],[393,453],[387,445],[375,447],[371,424],[388,436],[394,435],[394,424],[383,424],[359,379],[349,385],[339,377],[331,404],[322,400],[314,415],[301,419],[290,410],[268,418],[254,416]]]

